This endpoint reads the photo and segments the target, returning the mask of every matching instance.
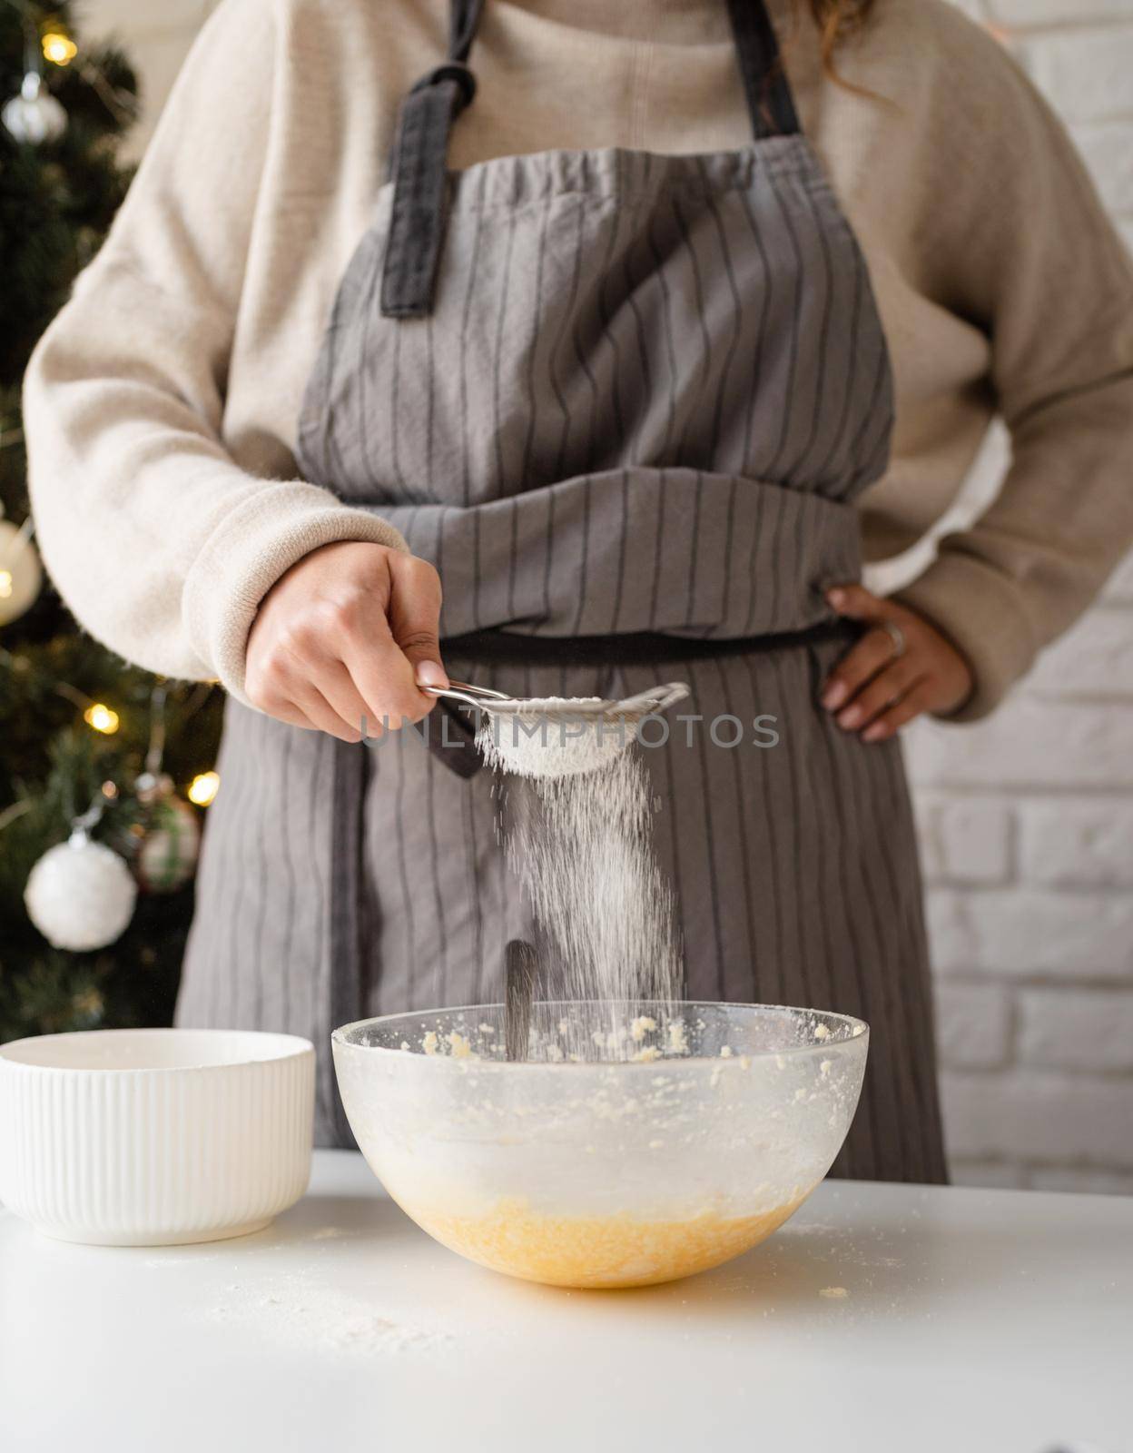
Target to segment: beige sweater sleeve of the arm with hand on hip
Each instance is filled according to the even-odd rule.
[[[934,289],[991,339],[1012,458],[991,507],[899,599],[967,657],[975,689],[949,719],[973,721],[1133,542],[1133,266],[1069,137],[998,44],[949,16],[940,76],[949,115],[933,118],[943,139],[921,225],[935,234]]]

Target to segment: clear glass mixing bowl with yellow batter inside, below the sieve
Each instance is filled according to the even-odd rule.
[[[770,1237],[829,1170],[869,1029],[766,1004],[501,1004],[333,1035],[370,1168],[442,1245],[571,1287],[646,1286]]]

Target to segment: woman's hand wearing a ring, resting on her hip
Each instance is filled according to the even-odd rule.
[[[972,668],[924,616],[864,586],[835,586],[827,600],[840,616],[870,626],[819,697],[845,731],[883,741],[921,712],[951,712],[967,699]]]

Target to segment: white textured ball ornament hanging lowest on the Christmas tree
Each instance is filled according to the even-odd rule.
[[[28,917],[55,949],[89,953],[121,937],[134,917],[138,885],[105,843],[73,833],[48,849],[28,876]]]

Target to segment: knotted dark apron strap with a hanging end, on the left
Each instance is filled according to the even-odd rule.
[[[398,112],[391,174],[394,209],[382,266],[382,312],[418,318],[433,302],[444,231],[449,132],[476,93],[465,64],[484,0],[452,0],[449,60],[413,87]]]

